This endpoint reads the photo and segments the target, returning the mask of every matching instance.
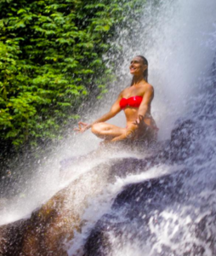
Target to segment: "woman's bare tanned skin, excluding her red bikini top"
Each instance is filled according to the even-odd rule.
[[[144,131],[143,125],[145,124],[153,127],[155,121],[151,117],[151,101],[154,97],[154,88],[144,79],[143,73],[146,68],[147,65],[145,65],[142,58],[139,56],[134,57],[129,66],[130,73],[134,76],[133,85],[121,91],[117,101],[111,106],[108,113],[96,119],[92,124],[80,121],[78,122],[78,128],[74,130],[82,133],[91,128],[94,135],[105,139],[106,143],[113,143],[129,138],[132,133],[139,137],[139,134],[141,135]],[[105,123],[105,121],[113,118],[122,110],[119,105],[121,99],[128,99],[132,96],[142,96],[143,100],[139,108],[127,107],[123,109],[127,121],[126,128]]]

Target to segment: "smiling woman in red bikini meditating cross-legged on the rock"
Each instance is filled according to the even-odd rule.
[[[154,97],[154,88],[148,84],[148,61],[144,56],[138,55],[131,61],[130,73],[134,76],[131,86],[122,90],[111,110],[102,117],[88,125],[79,122],[75,131],[84,132],[89,128],[105,143],[122,140],[156,140],[156,123],[151,116],[151,101]],[[121,110],[124,111],[127,126],[125,128],[105,123]]]

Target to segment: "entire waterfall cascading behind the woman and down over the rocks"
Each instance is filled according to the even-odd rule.
[[[128,34],[118,28],[122,56],[109,55],[117,62],[117,82],[100,105],[83,113],[89,121],[105,113],[130,82],[131,58],[145,55],[162,148],[92,156],[99,138],[71,131],[38,160],[33,175],[20,177],[15,195],[0,208],[0,224],[30,218],[57,193],[65,218],[79,219],[64,241],[70,256],[215,255],[215,10],[214,0],[147,1],[141,29]],[[123,114],[111,123],[123,126]]]

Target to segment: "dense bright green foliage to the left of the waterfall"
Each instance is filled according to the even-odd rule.
[[[1,142],[19,147],[60,137],[83,100],[101,97],[111,79],[102,56],[115,26],[144,2],[1,0]]]

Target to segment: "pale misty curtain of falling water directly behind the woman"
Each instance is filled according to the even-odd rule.
[[[199,78],[212,65],[214,51],[205,43],[215,31],[215,10],[213,0],[166,1],[159,11],[149,1],[141,20],[143,31],[134,32],[134,44],[120,38],[122,76],[129,79],[128,61],[134,55],[145,55],[149,61],[149,82],[155,88],[152,113],[162,139],[170,137],[175,120],[190,111]]]

